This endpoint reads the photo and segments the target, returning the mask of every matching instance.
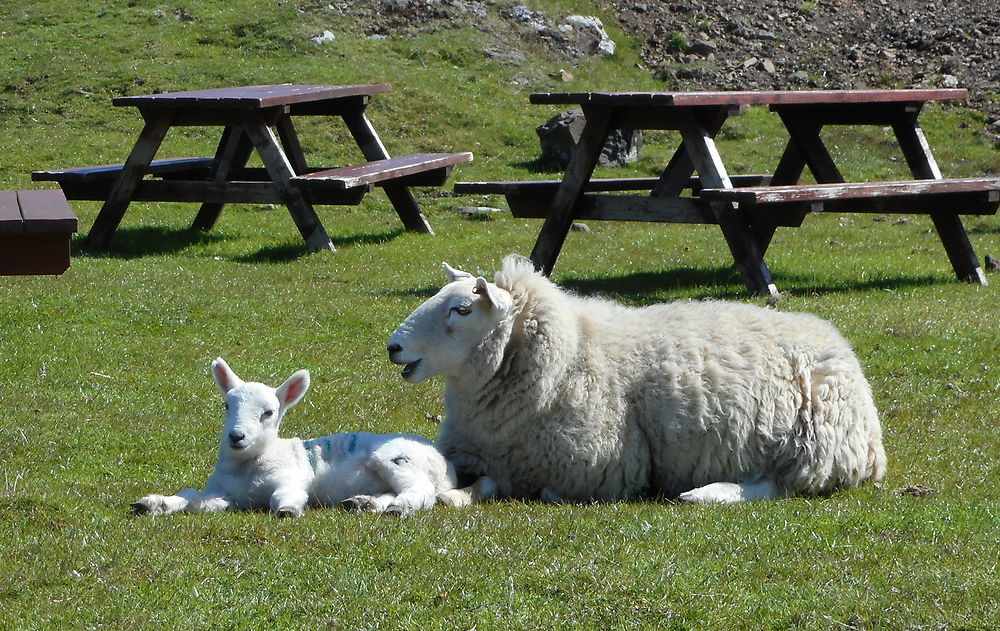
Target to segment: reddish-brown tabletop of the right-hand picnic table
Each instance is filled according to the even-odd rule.
[[[745,90],[718,92],[538,92],[528,98],[536,105],[607,105],[616,107],[830,105],[909,103],[967,99],[964,88],[896,90]]]

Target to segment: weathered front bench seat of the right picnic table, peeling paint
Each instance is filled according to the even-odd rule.
[[[698,195],[756,210],[994,214],[1000,206],[1000,177],[706,188]]]

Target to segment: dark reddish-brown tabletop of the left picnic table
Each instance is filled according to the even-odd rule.
[[[118,106],[132,107],[197,107],[262,109],[297,103],[330,101],[357,96],[371,96],[388,92],[386,83],[362,85],[253,85],[233,88],[211,88],[184,92],[162,92],[139,96],[120,96],[112,99]]]

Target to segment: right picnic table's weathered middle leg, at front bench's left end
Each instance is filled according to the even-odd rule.
[[[679,113],[678,116],[681,136],[701,177],[702,185],[709,188],[732,188],[733,184],[709,128],[692,113]],[[711,207],[747,290],[754,295],[777,295],[778,288],[774,284],[771,270],[764,262],[753,228],[746,217],[731,203],[713,202]]]

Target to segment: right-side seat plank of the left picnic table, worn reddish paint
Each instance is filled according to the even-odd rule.
[[[456,164],[471,161],[472,154],[469,152],[415,153],[398,158],[371,160],[369,162],[327,169],[316,173],[307,173],[293,177],[292,181],[304,186],[328,186],[331,188],[348,189],[399,180],[410,175],[428,171],[443,172]],[[445,175],[447,174],[445,173]]]

